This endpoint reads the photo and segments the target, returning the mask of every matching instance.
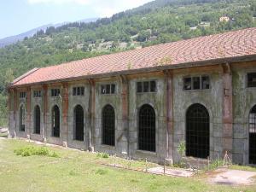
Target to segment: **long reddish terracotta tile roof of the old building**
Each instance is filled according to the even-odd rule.
[[[39,68],[13,86],[255,54],[256,28],[248,28]]]

